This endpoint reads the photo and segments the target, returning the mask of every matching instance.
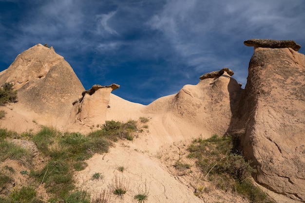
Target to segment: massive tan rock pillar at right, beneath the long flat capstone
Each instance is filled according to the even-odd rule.
[[[259,184],[305,202],[305,55],[283,47],[254,50],[230,131],[257,167]]]

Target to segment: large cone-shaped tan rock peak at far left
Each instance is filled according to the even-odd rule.
[[[54,49],[37,44],[18,55],[0,75],[0,84],[15,83],[19,103],[27,111],[67,117],[84,88],[71,66]]]

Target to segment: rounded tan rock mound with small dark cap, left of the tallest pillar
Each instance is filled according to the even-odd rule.
[[[242,92],[237,81],[224,70],[213,72],[216,74],[201,79],[197,85],[185,85],[177,94],[157,99],[144,112],[164,116],[164,112],[169,112],[169,117],[164,118],[169,120],[166,123],[185,123],[188,127],[184,129],[193,132],[198,129],[204,137],[224,134],[229,127],[232,108]]]

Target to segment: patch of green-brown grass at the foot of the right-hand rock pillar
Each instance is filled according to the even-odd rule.
[[[251,173],[256,171],[250,163],[234,149],[235,140],[213,135],[211,138],[195,139],[188,150],[190,158],[196,159],[201,169],[201,179],[208,179],[223,190],[236,191],[253,203],[267,203],[269,198],[251,183]]]

